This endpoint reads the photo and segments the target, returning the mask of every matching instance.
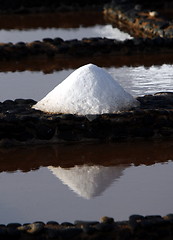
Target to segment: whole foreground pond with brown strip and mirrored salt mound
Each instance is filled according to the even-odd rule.
[[[172,149],[168,143],[66,145],[60,149],[55,145],[47,150],[12,150],[16,161],[12,161],[12,152],[4,150],[4,162],[0,162],[1,223],[166,215],[172,212]],[[37,157],[44,167],[16,171],[33,169]],[[46,167],[49,165],[54,167]],[[5,168],[13,172],[4,172]]]

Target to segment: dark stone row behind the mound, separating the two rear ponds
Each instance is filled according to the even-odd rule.
[[[61,38],[45,38],[31,43],[0,44],[0,59],[21,60],[28,57],[73,58],[98,56],[134,56],[150,54],[173,54],[173,38],[131,39],[124,42],[106,38],[83,38],[64,41]]]

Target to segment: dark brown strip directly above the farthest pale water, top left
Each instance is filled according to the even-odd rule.
[[[0,29],[78,28],[104,25],[102,12],[75,11],[37,14],[0,15]]]

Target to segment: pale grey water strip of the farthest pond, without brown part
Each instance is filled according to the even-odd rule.
[[[92,27],[79,28],[46,28],[46,29],[29,29],[29,30],[0,30],[0,42],[32,42],[42,40],[43,38],[62,38],[64,40],[92,37],[115,38],[121,41],[131,39],[127,33],[113,28],[112,25],[95,25]]]

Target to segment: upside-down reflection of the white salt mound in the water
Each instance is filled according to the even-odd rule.
[[[78,195],[90,199],[101,195],[113,181],[120,178],[125,166],[83,165],[68,169],[49,166],[48,169]]]

